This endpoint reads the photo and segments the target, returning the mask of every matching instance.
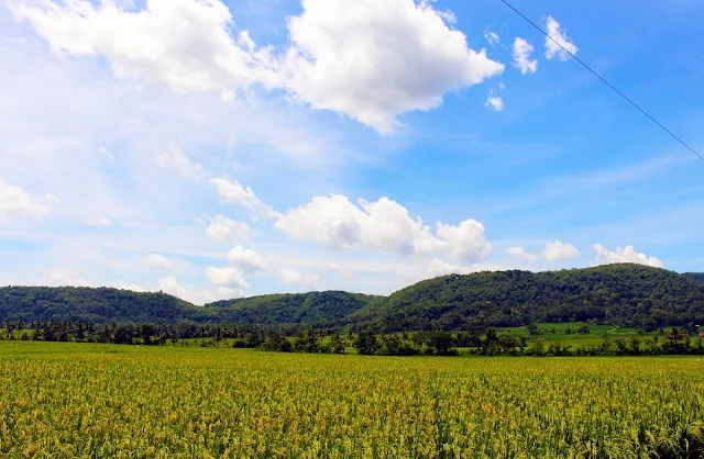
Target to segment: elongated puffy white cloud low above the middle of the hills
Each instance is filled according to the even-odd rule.
[[[480,222],[468,220],[458,226],[438,223],[436,236],[420,217],[413,219],[406,208],[388,198],[360,200],[358,206],[340,194],[315,197],[282,215],[275,227],[328,248],[365,247],[425,256],[447,253],[465,264],[485,257],[492,247]]]

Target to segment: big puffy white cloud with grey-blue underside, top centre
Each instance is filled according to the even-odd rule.
[[[504,70],[484,49],[470,48],[429,1],[304,0],[302,7],[288,20],[288,90],[382,133],[397,114],[433,109],[446,92]]]

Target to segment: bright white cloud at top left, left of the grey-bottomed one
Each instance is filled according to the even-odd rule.
[[[266,51],[257,51],[246,32],[237,41],[230,36],[232,16],[219,0],[147,0],[138,12],[84,0],[18,0],[10,9],[56,53],[103,55],[118,77],[163,82],[179,92],[274,78]]]

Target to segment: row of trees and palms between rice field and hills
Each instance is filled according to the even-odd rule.
[[[346,334],[323,329],[263,328],[242,325],[86,324],[67,321],[8,321],[0,324],[0,339],[111,343],[143,346],[218,346],[264,351],[345,354],[377,356],[660,356],[704,355],[703,338],[694,325],[671,327],[660,336],[601,336],[602,343],[574,347],[546,336],[516,337],[495,327],[470,332],[442,331],[376,334],[372,329]],[[580,333],[584,333],[580,328]],[[460,351],[462,349],[462,351]]]

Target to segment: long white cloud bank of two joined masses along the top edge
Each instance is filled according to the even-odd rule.
[[[399,113],[433,109],[444,93],[504,70],[431,1],[304,0],[287,21],[289,45],[276,53],[246,31],[231,36],[220,0],[147,0],[136,11],[114,1],[14,0],[11,11],[56,53],[105,56],[118,77],[217,90],[223,100],[253,86],[283,89],[382,133]]]

